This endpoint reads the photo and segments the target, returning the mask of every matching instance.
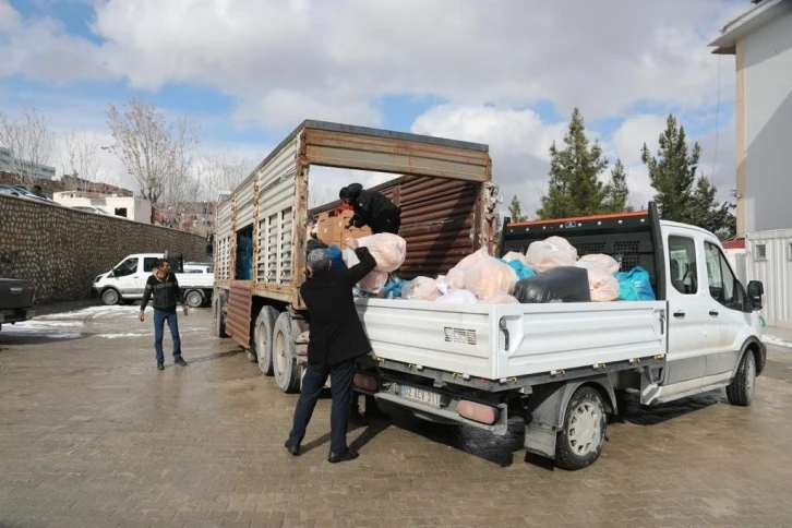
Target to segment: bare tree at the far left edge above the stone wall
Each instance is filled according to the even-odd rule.
[[[23,105],[19,119],[0,110],[0,143],[11,149],[9,169],[29,187],[39,179],[41,165],[52,156],[55,135],[46,117]]]

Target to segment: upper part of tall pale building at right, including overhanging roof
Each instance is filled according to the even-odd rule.
[[[735,57],[740,236],[792,227],[792,0],[754,3],[710,45]]]

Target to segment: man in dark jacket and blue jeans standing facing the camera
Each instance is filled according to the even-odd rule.
[[[141,322],[145,320],[143,312],[152,296],[154,296],[152,305],[154,307],[154,350],[157,353],[157,370],[165,369],[163,334],[166,321],[168,322],[168,328],[170,328],[170,337],[173,340],[173,362],[184,367],[187,365],[187,361],[181,357],[179,321],[176,315],[177,302],[181,304],[184,315],[187,315],[188,310],[181,295],[181,288],[179,288],[179,281],[176,279],[176,275],[170,273],[170,263],[165,259],[157,261],[157,267],[154,268],[152,276],[146,280],[146,289],[143,292],[143,302],[141,302],[141,312],[137,314],[137,319]]]

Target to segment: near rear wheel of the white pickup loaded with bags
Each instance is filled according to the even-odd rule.
[[[584,385],[569,398],[564,428],[555,442],[555,464],[576,471],[593,464],[605,443],[605,406],[596,388]]]

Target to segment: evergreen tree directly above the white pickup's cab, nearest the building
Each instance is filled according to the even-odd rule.
[[[685,129],[669,116],[660,134],[657,156],[644,144],[641,160],[649,169],[660,217],[703,227],[721,237],[733,236],[736,221],[733,205],[719,203],[718,189],[704,176],[697,177],[701,148],[688,151]]]

